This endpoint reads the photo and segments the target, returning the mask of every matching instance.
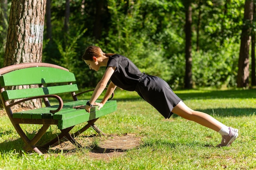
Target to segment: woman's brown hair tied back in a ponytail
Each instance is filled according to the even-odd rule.
[[[88,46],[85,49],[85,52],[83,53],[82,59],[92,61],[92,57],[98,58],[98,57],[101,57],[102,55],[109,57],[111,55],[114,55],[114,53],[103,53],[101,48],[99,48],[98,46]]]

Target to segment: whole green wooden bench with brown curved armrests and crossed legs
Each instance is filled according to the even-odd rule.
[[[100,110],[98,110],[98,106],[94,106],[90,113],[87,113],[85,109],[75,109],[73,106],[85,105],[87,100],[78,100],[77,96],[93,91],[93,89],[76,94],[78,87],[74,84],[75,81],[73,73],[54,64],[23,63],[0,68],[1,101],[11,123],[25,142],[25,151],[34,150],[42,154],[36,144],[50,125],[58,126],[61,132],[56,138],[44,144],[45,147],[53,145],[63,137],[76,146],[81,146],[74,137],[89,127],[93,127],[98,133],[105,135],[94,122],[99,117],[117,110],[116,101],[110,100],[114,94]],[[14,87],[16,88],[14,89]],[[63,103],[63,99],[58,96],[60,93],[70,93],[74,101]],[[51,106],[48,98],[55,98],[59,104]],[[32,99],[42,99],[45,107],[13,112],[15,105]],[[75,125],[84,122],[87,124],[83,128],[70,134],[70,130]],[[43,126],[32,139],[29,139],[20,124],[41,124]]]

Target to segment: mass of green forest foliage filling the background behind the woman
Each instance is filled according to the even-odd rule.
[[[96,86],[104,69],[99,72],[90,71],[81,56],[86,46],[97,45],[106,53],[119,53],[128,57],[142,72],[162,77],[172,88],[182,88],[185,70],[185,1],[99,2],[103,6],[100,9],[101,14],[98,15],[98,1],[70,1],[69,31],[66,34],[63,32],[65,1],[52,1],[53,38],[44,39],[43,62],[68,67],[76,74],[79,86]],[[235,86],[244,2],[191,2],[195,86]],[[95,28],[96,19],[101,23],[98,36],[94,33],[98,29]],[[0,25],[0,31],[1,28]],[[46,28],[44,33],[46,35]],[[199,44],[199,52],[195,51],[196,43]],[[3,61],[3,53],[4,49],[0,48],[0,62]]]

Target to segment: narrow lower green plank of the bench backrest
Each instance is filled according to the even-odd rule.
[[[19,90],[7,90],[3,91],[3,97],[5,100],[22,99],[27,97],[34,97],[40,95],[53,95],[59,93],[67,93],[78,91],[76,84],[62,85],[62,86],[50,86],[43,88],[24,88]]]

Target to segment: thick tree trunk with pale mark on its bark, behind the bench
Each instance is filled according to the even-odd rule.
[[[12,0],[4,66],[42,61],[45,4],[46,0]],[[41,105],[40,99],[21,104]]]

